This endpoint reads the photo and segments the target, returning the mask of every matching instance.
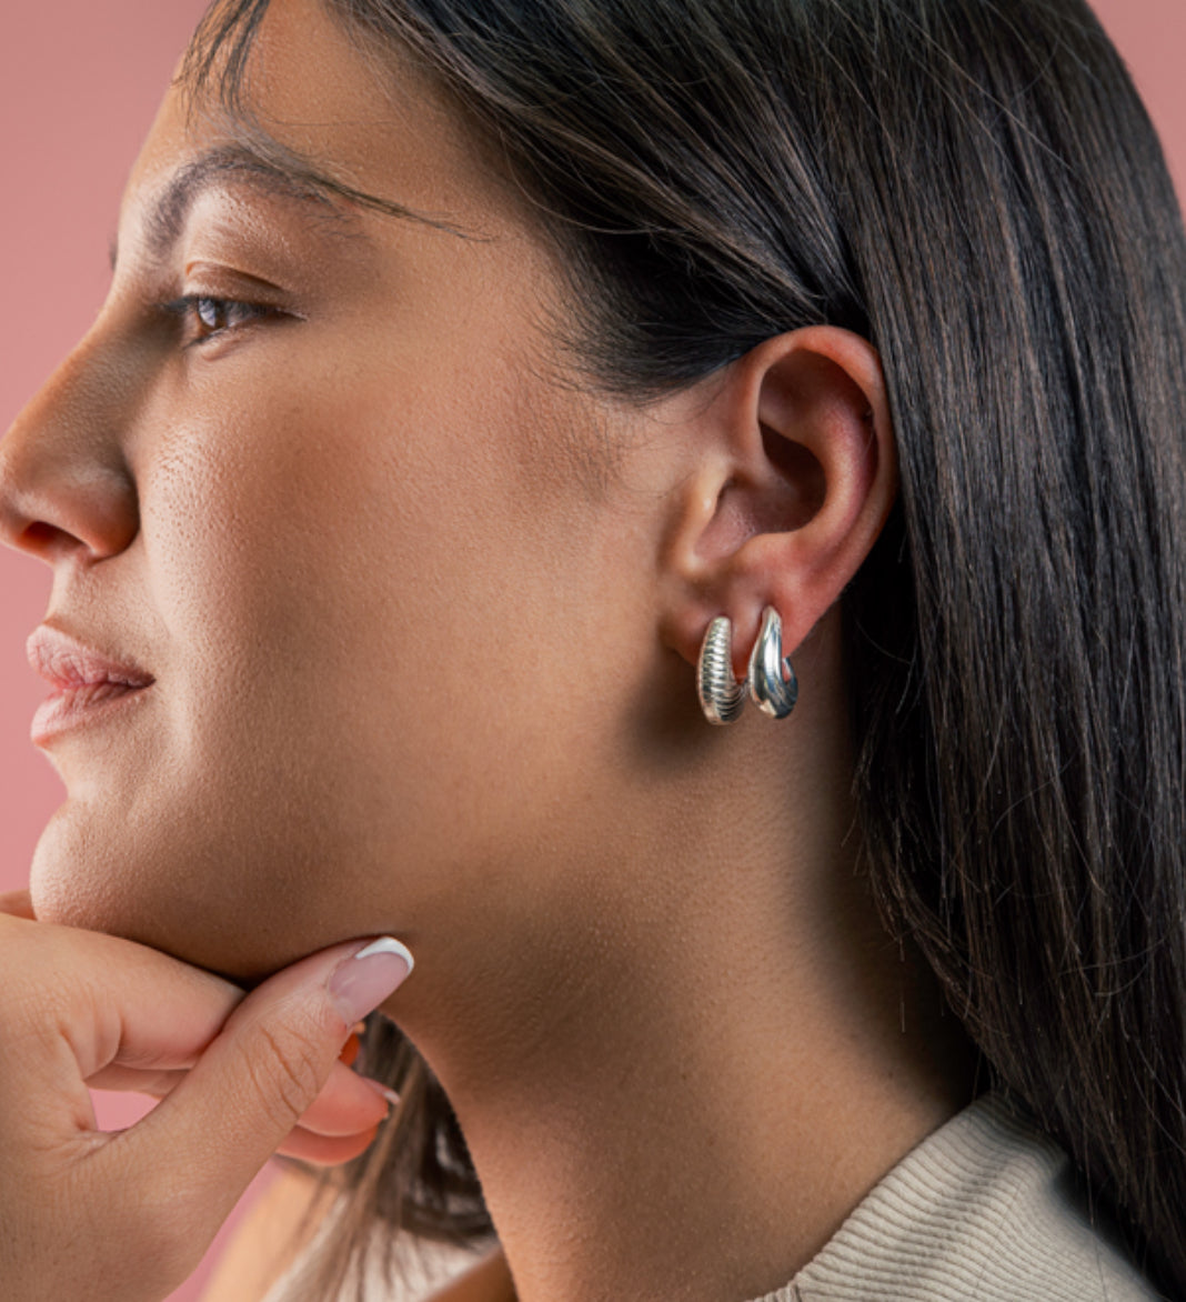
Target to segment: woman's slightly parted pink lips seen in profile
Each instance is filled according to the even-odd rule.
[[[113,719],[155,682],[134,660],[105,655],[42,625],[26,643],[29,663],[53,691],[33,716],[30,737],[44,746],[64,732]]]

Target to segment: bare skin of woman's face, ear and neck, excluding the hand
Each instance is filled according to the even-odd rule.
[[[398,936],[385,1008],[519,1298],[760,1295],[970,1092],[853,874],[836,603],[897,491],[877,355],[812,327],[591,392],[549,243],[427,81],[315,0],[256,59],[272,137],[456,229],[227,172],[156,251],[163,186],[236,133],[165,98],[111,296],[0,444],[48,622],[155,677],[47,746],[36,914],[246,986]],[[199,339],[185,294],[267,312]],[[768,603],[799,704],[711,728],[707,624],[741,676]]]

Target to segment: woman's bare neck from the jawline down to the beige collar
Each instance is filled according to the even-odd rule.
[[[763,1297],[969,1101],[962,1032],[838,849],[851,810],[819,799],[828,763],[812,750],[810,831],[768,801],[728,820],[685,801],[625,878],[624,807],[599,870],[565,861],[582,896],[543,914],[560,922],[530,956],[519,923],[480,975],[424,982],[423,1018],[401,1004],[519,1302]],[[652,793],[639,825],[655,812]],[[644,884],[629,906],[624,879]]]

